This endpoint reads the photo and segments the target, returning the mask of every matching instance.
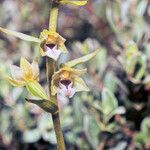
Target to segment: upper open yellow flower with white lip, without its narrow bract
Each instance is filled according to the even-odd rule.
[[[61,53],[66,53],[65,39],[57,32],[44,29],[40,35],[40,52],[42,56],[48,56],[57,60]]]

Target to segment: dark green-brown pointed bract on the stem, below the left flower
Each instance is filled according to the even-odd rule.
[[[52,114],[58,112],[57,105],[54,102],[50,101],[50,100],[46,100],[46,99],[35,100],[35,99],[28,99],[28,98],[25,98],[25,100],[27,102],[38,105],[40,108],[42,108],[46,112],[49,112],[49,113],[52,113]]]

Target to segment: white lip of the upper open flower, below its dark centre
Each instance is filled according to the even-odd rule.
[[[56,46],[53,47],[52,49],[46,46],[46,52],[45,52],[45,54],[46,54],[48,57],[50,57],[50,58],[52,58],[52,59],[54,59],[54,60],[57,60],[58,57],[59,57],[59,55],[61,54],[61,51],[58,50],[58,49],[56,48]]]

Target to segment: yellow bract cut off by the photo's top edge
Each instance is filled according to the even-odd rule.
[[[74,5],[74,6],[83,6],[83,5],[87,4],[87,1],[61,0],[59,3],[63,4],[63,5],[65,5],[65,4],[71,4],[71,5]]]

